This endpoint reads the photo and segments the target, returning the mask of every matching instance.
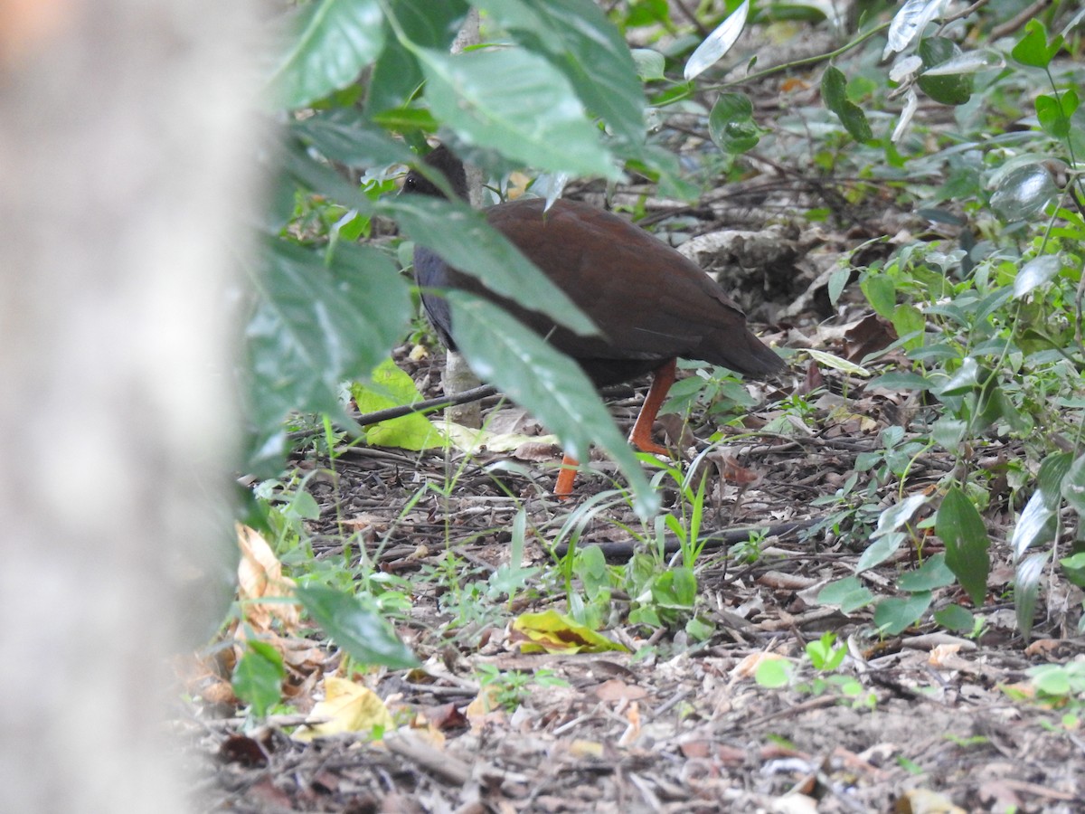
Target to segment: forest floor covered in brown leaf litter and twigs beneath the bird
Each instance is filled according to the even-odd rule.
[[[629,609],[643,598],[615,589],[602,629],[621,649],[522,651],[525,637],[511,622],[565,611],[571,600],[554,577],[556,542],[599,544],[621,564],[647,545],[635,533],[656,538],[613,488],[615,470],[604,460],[592,461],[575,497],[560,501],[549,493],[560,450],[546,438],[470,457],[363,445],[333,465],[298,456],[301,470],[314,473],[307,488],[319,506],[319,518],[306,523],[312,556],[356,563],[360,550],[374,573],[409,585],[409,602],[394,618],[423,666],[352,676],[397,723],[380,743],[360,733],[309,741],[288,734],[304,728],[292,727],[312,712],[319,679],[342,666],[311,629],[282,639],[293,643],[288,700],[297,714],[253,728],[237,716],[221,677],[203,674],[202,689],[190,682],[195,700],[179,710],[177,727],[200,777],[202,810],[1085,812],[1085,734],[1064,711],[1030,700],[1026,674],[1085,658],[1076,636],[1082,598],[1051,584],[1031,640],[1021,639],[1007,543],[1020,507],[997,505],[998,489],[984,514],[993,540],[987,603],[972,609],[982,624],[970,635],[952,634],[927,613],[919,625],[879,637],[869,606],[845,613],[818,601],[827,583],[855,574],[881,510],[934,492],[958,466],[934,447],[915,456],[906,478],[893,474],[880,465],[884,431],[899,428],[895,443],[906,444],[931,407],[803,353],[858,363],[892,341],[858,300],[830,307],[826,275],[848,246],[907,222],[886,209],[867,232],[783,227],[758,242],[733,224],[722,231],[716,214],[711,203],[686,213],[692,240],[707,246],[687,251],[705,267],[742,267],[737,277],[757,281],[751,291],[725,274],[764,338],[790,348],[790,371],[746,383],[760,406],[705,456],[706,546],[695,564],[703,639],[681,624],[630,623]],[[411,349],[399,348],[397,361],[424,395],[438,395],[442,355],[431,348],[419,358]],[[871,371],[902,365],[891,353]],[[644,390],[637,383],[611,399],[624,427]],[[667,444],[689,459],[718,430],[715,415],[702,405],[689,424],[664,419]],[[483,416],[497,438],[539,432],[496,398],[484,402]],[[1012,442],[988,441],[973,466],[1017,455]],[[661,496],[664,513],[688,517],[666,475]],[[522,550],[512,545],[520,512]],[[751,527],[767,532],[750,543]],[[937,538],[919,533],[864,571],[863,582],[892,596],[903,572],[940,550]],[[656,562],[664,568],[666,557]],[[959,586],[937,588],[931,611],[954,602],[969,605]],[[827,633],[847,658],[818,670],[806,648]],[[786,662],[786,679],[767,682],[766,661]],[[488,681],[495,674],[505,678]]]

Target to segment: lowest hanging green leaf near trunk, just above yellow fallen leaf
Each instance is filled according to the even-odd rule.
[[[361,664],[383,664],[406,670],[419,664],[380,612],[358,597],[326,585],[294,589],[309,616],[321,629]]]

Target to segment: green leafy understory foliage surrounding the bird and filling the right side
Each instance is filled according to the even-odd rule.
[[[311,429],[316,415],[326,454],[343,437],[333,425],[365,438],[371,431],[354,427],[343,408],[343,382],[361,382],[356,395],[410,400],[396,395],[394,374],[378,371],[387,371],[390,351],[417,310],[400,272],[412,243],[574,330],[591,330],[465,204],[394,194],[403,165],[417,161],[429,137],[493,178],[527,166],[539,174],[537,188],[560,190],[574,176],[618,181],[637,174],[661,195],[690,201],[740,174],[743,155],[779,155],[800,140],[808,156],[803,171],[838,190],[844,208],[910,209],[926,225],[857,245],[828,283],[834,303],[858,287],[895,332],[865,359],[828,364],[856,378],[877,369],[867,387],[911,392],[920,409],[907,437],[904,428],[885,430],[883,448],[820,501],[828,519],[815,533],[852,535],[865,548],[856,575],[827,586],[821,600],[845,611],[877,603],[883,634],[924,619],[933,592],[955,581],[981,608],[991,568],[984,517],[999,503],[1016,518],[1012,599],[1026,638],[1045,575],[1085,585],[1077,542],[1085,513],[1085,111],[1077,89],[1085,71],[1083,13],[1054,3],[1011,25],[1025,5],[860,3],[850,21],[827,16],[825,3],[702,2],[695,22],[714,30],[709,37],[667,3],[633,0],[608,3],[605,13],[589,0],[314,0],[291,8],[277,21],[280,47],[269,72],[267,100],[281,127],[267,151],[271,205],[261,218],[263,262],[252,274],[240,377],[251,423],[244,467],[265,480],[253,522],[272,532],[280,552],[304,552],[314,507],[298,475],[284,471],[288,434]],[[483,44],[451,55],[471,9],[482,13]],[[775,41],[817,31],[835,44],[763,68],[742,50],[753,29]],[[639,47],[630,51],[627,41]],[[781,89],[773,112],[755,103],[765,82]],[[789,96],[793,88],[820,92]],[[698,123],[692,149],[688,125],[671,126],[690,116]],[[826,206],[803,216],[841,226],[841,212]],[[388,222],[401,242],[367,241]],[[473,365],[497,371],[498,387],[577,457],[598,444],[618,463],[627,499],[650,530],[646,550],[667,530],[682,540],[679,562],[658,555],[616,569],[576,549],[582,513],[556,532],[556,542],[572,545],[544,581],[567,592],[571,613],[589,627],[608,621],[611,593],[621,589],[638,597],[635,624],[706,637],[711,629],[695,611],[703,484],[699,491],[680,470],[650,483],[590,386],[536,386],[541,367],[558,371],[547,381],[583,379],[573,363],[515,326],[471,319],[485,304],[451,305],[463,314],[460,342]],[[803,354],[791,359],[809,364]],[[802,399],[792,408],[802,410]],[[978,465],[985,447],[1007,440],[1019,442],[1019,457]],[[948,451],[957,466],[935,488],[916,492],[909,466],[932,449]],[[677,516],[658,518],[661,480],[685,497]],[[888,484],[896,497],[885,506]],[[518,546],[523,534],[522,524],[513,530]],[[924,556],[930,534],[944,554]],[[743,550],[756,557],[751,545]],[[875,596],[863,571],[905,546],[918,555],[916,569],[895,596]],[[403,613],[396,597],[406,588],[374,580],[363,565],[310,568],[296,554],[288,565],[291,557],[301,600],[339,644],[359,661],[407,663],[392,646],[372,649],[344,622]],[[478,595],[460,596],[463,607],[477,609],[480,597],[498,609],[495,597],[511,601],[537,577],[518,565],[514,558]],[[965,632],[981,624],[963,605],[941,609],[936,622]]]

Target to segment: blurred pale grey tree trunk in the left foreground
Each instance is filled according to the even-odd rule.
[[[0,0],[4,811],[187,807],[163,701],[229,573],[250,12]]]

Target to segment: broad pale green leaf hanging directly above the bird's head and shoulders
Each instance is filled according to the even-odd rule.
[[[467,143],[551,173],[618,177],[569,80],[541,56],[417,53],[431,110]]]

